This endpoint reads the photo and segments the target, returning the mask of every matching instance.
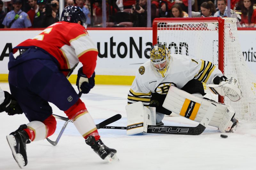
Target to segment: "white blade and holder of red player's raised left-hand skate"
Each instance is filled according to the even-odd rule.
[[[20,153],[16,153],[16,151],[14,149],[14,146],[16,146],[16,144],[17,144],[15,137],[13,135],[8,135],[8,136],[6,136],[6,139],[11,148],[13,158],[19,165],[20,169],[22,169],[22,167],[25,166],[25,160],[24,160],[23,156]]]

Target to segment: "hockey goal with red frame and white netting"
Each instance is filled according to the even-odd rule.
[[[153,45],[164,44],[171,54],[210,61],[227,78],[239,82],[242,97],[232,102],[206,90],[207,97],[232,106],[240,122],[256,123],[256,78],[248,68],[238,41],[236,18],[156,18]],[[171,61],[172,62],[172,61]]]

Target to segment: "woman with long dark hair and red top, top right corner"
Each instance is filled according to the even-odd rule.
[[[241,25],[242,27],[255,27],[256,24],[256,6],[253,6],[253,0],[243,0],[241,6]]]

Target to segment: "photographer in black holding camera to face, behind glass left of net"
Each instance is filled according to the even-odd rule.
[[[151,13],[156,11],[156,6],[151,5]],[[136,0],[136,4],[132,5],[133,27],[147,27],[147,0]],[[152,16],[151,17],[156,17]]]

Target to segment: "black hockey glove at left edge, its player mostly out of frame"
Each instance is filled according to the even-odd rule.
[[[12,97],[12,95],[4,91],[4,102],[0,105],[0,112],[5,111],[8,115],[22,114],[23,111],[20,108],[18,102]]]

